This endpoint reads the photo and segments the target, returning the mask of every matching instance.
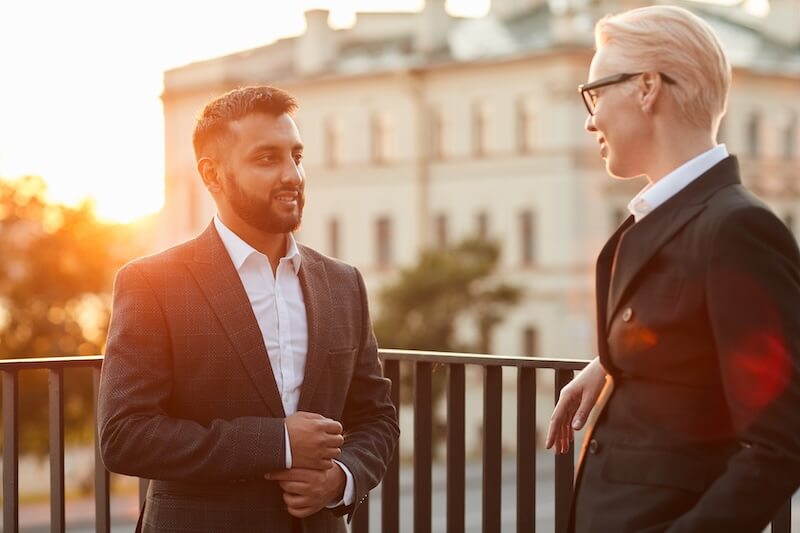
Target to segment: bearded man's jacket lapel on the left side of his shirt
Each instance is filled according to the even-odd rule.
[[[188,262],[189,270],[270,412],[275,416],[286,416],[261,329],[239,274],[213,223],[200,234],[196,243],[194,260]]]

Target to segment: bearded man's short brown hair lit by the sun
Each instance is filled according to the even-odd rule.
[[[226,136],[228,125],[252,113],[280,116],[292,114],[297,100],[283,89],[269,85],[240,87],[211,100],[197,118],[192,134],[194,155],[199,160],[207,155],[211,143]]]

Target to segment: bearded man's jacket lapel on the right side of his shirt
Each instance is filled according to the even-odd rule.
[[[306,303],[308,352],[297,410],[309,411],[317,384],[328,363],[328,324],[333,316],[333,303],[325,264],[310,255],[304,246],[298,248],[302,255],[299,277]]]

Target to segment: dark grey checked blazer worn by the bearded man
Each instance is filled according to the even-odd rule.
[[[341,421],[353,513],[399,430],[361,275],[299,245],[308,355],[298,410]],[[261,331],[214,225],[117,274],[98,400],[109,470],[152,479],[145,531],[289,532],[277,482],[284,410]],[[309,532],[344,531],[322,510]]]

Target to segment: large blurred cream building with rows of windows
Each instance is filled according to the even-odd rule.
[[[720,141],[797,231],[800,0],[772,0],[766,17],[676,3],[711,24],[734,65]],[[485,17],[457,19],[444,0],[428,0],[421,12],[358,13],[342,30],[315,10],[301,36],[166,72],[160,244],[192,237],[215,212],[191,146],[203,104],[238,86],[277,85],[300,103],[303,242],[358,266],[374,299],[425,247],[496,239],[500,275],[525,296],[490,351],[592,356],[594,259],[644,183],[607,176],[576,87],[594,22],[636,5],[493,0]]]

